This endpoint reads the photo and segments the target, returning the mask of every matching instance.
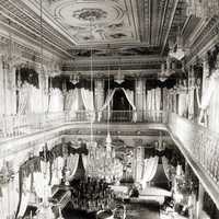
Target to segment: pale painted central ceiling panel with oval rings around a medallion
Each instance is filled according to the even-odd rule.
[[[47,7],[78,45],[139,42],[135,0],[57,0]]]

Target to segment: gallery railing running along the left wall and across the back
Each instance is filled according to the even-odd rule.
[[[101,117],[100,117],[101,115]],[[43,129],[69,123],[166,123],[168,113],[162,111],[107,111],[103,112],[59,112],[28,115],[2,116],[0,139],[25,136]]]

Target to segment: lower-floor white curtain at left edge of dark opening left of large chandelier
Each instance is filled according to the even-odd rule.
[[[78,163],[79,163],[79,154],[78,153],[70,154],[67,158],[67,170],[68,170],[67,181],[72,181],[72,178],[76,174],[77,168],[78,168]]]

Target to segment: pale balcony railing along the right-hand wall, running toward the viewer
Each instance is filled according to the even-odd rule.
[[[172,113],[168,125],[180,150],[219,206],[219,134]]]

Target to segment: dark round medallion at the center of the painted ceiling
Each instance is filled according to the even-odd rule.
[[[80,9],[77,11],[73,11],[72,14],[73,18],[77,18],[78,20],[83,21],[99,21],[101,19],[107,18],[107,12],[102,9]]]

